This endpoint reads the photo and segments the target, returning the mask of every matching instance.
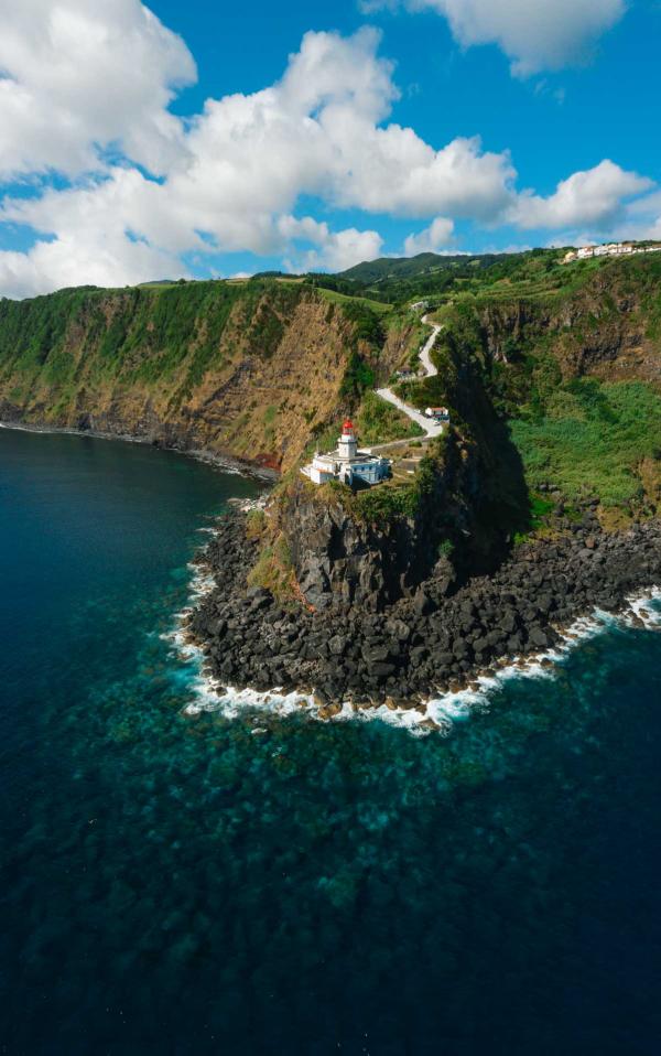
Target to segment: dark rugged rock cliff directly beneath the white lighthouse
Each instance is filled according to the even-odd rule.
[[[279,500],[278,527],[308,604],[377,612],[415,595],[432,571],[449,590],[484,559],[477,552],[484,540],[476,522],[483,491],[476,448],[448,437],[424,478],[410,515],[379,520],[346,488],[315,488],[303,478],[289,486]]]

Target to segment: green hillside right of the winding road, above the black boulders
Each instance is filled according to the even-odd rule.
[[[511,274],[485,272],[438,319],[438,376],[400,386],[404,398],[421,408],[448,403],[454,421],[479,435],[485,411],[467,398],[468,378],[479,378],[531,493],[549,485],[568,499],[597,496],[604,508],[657,508],[659,257],[559,268],[529,256]]]

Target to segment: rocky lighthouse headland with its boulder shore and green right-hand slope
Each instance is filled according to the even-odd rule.
[[[613,269],[557,299],[448,304],[437,377],[401,392],[452,427],[409,483],[293,476],[221,529],[191,628],[218,681],[313,688],[326,713],[419,707],[659,583],[657,270],[633,292]]]

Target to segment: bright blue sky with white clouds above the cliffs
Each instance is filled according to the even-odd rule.
[[[655,0],[0,4],[0,295],[661,238]]]

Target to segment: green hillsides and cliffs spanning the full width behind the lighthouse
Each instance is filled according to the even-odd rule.
[[[285,470],[330,444],[347,412],[366,443],[413,438],[371,390],[415,362],[426,331],[409,305],[427,295],[444,327],[438,376],[400,395],[451,407],[479,455],[485,516],[520,519],[541,485],[655,509],[661,255],[561,257],[426,254],[339,277],[1,301],[0,413]]]

